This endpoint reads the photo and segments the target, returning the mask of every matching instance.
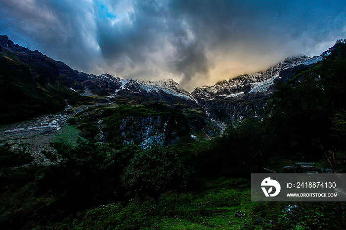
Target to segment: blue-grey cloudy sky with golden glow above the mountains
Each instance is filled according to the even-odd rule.
[[[1,0],[0,34],[80,71],[191,91],[319,55],[346,38],[346,1]]]

